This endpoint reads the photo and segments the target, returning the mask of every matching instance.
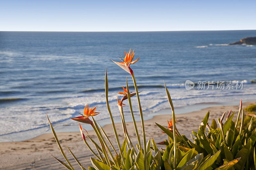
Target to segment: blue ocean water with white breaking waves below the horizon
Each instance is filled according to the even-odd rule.
[[[227,43],[256,36],[256,30],[183,32],[0,32],[0,142],[19,141],[54,127],[68,131],[85,104],[98,105],[96,120],[109,123],[109,102],[118,118],[117,93],[131,76],[110,59],[135,49],[131,65],[145,116],[169,108],[163,80],[175,107],[256,99],[256,46]],[[185,81],[243,81],[243,89],[185,89]],[[125,101],[125,104],[128,102]],[[132,99],[138,115],[136,97]],[[124,107],[129,116],[129,107]],[[77,127],[78,130],[78,127]]]

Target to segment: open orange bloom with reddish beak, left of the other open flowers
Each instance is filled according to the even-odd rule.
[[[87,106],[87,104],[86,104],[86,106],[84,107],[84,115],[83,116],[74,117],[74,118],[70,118],[70,119],[78,121],[78,122],[82,122],[82,123],[92,124],[92,121],[89,119],[89,116],[96,116],[100,113],[100,112],[95,112],[96,107],[92,107],[90,109],[90,105]],[[82,115],[82,114],[80,114],[80,115]]]

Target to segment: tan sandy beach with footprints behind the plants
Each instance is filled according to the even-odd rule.
[[[235,111],[237,114],[239,107],[238,104],[236,106],[207,107],[205,109],[194,111],[191,113],[177,114],[177,128],[181,134],[184,134],[188,138],[190,138],[191,130],[197,130],[199,123],[204,118],[207,111],[210,111],[209,122],[211,122],[213,118],[218,119],[218,117],[220,117],[223,112],[228,112],[230,109],[232,109],[232,111]],[[243,103],[245,107],[251,104],[256,104],[256,101]],[[166,112],[171,113],[170,110],[166,110]],[[144,121],[146,137],[154,138],[156,142],[164,141],[167,136],[166,134],[161,133],[161,129],[156,126],[155,122],[167,126],[166,120],[169,118],[170,115],[156,115],[152,119]],[[136,144],[136,135],[134,132],[133,123],[127,122],[126,125],[131,140],[134,144]],[[141,129],[140,122],[137,122],[137,126],[138,129]],[[113,143],[116,143],[115,136],[113,135],[112,125],[108,124],[105,125],[103,128],[109,136],[110,140],[113,141]],[[120,123],[116,123],[116,129],[119,133],[120,139],[123,140],[123,129]],[[97,137],[93,131],[88,131],[88,133],[90,137],[97,141]],[[141,130],[139,133],[141,134]],[[79,167],[77,166],[75,160],[72,158],[71,154],[68,152],[68,149],[65,147],[65,145],[67,145],[71,149],[71,151],[76,155],[76,157],[85,168],[91,166],[90,157],[92,156],[92,154],[84,144],[80,132],[57,133],[57,136],[64,149],[64,152],[71,160],[71,164],[75,169],[78,169]],[[88,138],[87,140],[89,141]],[[90,141],[88,143],[91,144]],[[51,133],[43,134],[41,136],[22,142],[1,143],[0,146],[0,169],[65,169],[51,156],[53,155],[60,160],[64,160],[60,153],[58,145]]]

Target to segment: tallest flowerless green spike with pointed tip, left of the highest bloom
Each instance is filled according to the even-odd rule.
[[[117,132],[116,132],[115,122],[113,120],[113,116],[112,116],[112,113],[111,113],[111,110],[110,110],[110,107],[109,107],[109,103],[108,103],[108,77],[107,77],[107,69],[106,69],[106,75],[105,75],[105,95],[106,95],[106,103],[107,103],[108,113],[109,113],[109,116],[110,116],[110,119],[111,119],[111,122],[112,122],[112,126],[113,126],[115,137],[116,137],[116,142],[117,142],[119,151],[121,153],[120,155],[121,155],[122,162],[123,162],[123,165],[124,165],[123,151],[122,151],[119,139],[118,139],[118,135],[117,135]]]

